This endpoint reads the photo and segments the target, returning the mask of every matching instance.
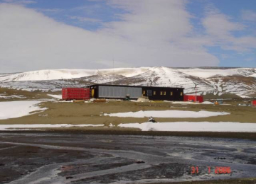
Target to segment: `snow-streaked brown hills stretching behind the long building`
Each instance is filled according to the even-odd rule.
[[[153,83],[151,82],[153,81]],[[140,67],[119,69],[51,69],[16,74],[0,74],[0,86],[58,91],[63,86],[125,84],[174,86],[199,93],[256,95],[256,69],[252,68],[169,68]]]

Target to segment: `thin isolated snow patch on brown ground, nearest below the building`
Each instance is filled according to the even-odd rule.
[[[186,110],[147,110],[128,113],[111,113],[104,114],[112,117],[210,117],[217,115],[229,115],[225,112],[210,112],[210,111],[186,111]]]

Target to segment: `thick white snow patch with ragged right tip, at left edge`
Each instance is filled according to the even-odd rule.
[[[36,110],[46,110],[46,108],[36,106],[38,103],[41,103],[41,101],[21,100],[0,102],[0,120],[30,115]]]

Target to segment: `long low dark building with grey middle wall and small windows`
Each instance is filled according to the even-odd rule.
[[[184,88],[169,88],[156,86],[124,86],[124,85],[91,85],[91,98],[118,98],[124,99],[127,95],[131,99],[146,96],[149,100],[183,101]]]

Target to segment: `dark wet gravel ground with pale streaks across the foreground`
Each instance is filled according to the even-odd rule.
[[[247,139],[1,132],[0,183],[252,183],[238,178],[256,178],[255,152]]]

